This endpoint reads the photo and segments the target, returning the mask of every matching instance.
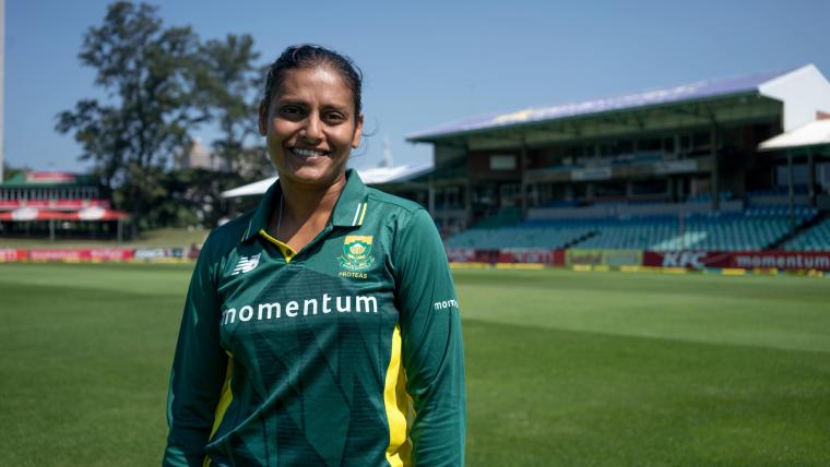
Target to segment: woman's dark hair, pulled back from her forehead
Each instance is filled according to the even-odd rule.
[[[340,74],[343,82],[352,91],[352,98],[355,104],[355,118],[360,115],[360,86],[363,84],[363,73],[355,62],[334,50],[315,44],[300,44],[289,46],[283,53],[271,63],[265,80],[265,105],[271,104],[271,97],[274,89],[282,85],[283,76],[288,70],[308,70],[321,65],[329,65]]]

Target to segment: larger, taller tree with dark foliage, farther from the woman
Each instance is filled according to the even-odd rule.
[[[193,111],[198,37],[190,27],[165,27],[157,8],[127,1],[107,9],[103,25],[90,27],[79,53],[96,69],[106,101],[82,99],[58,115],[56,129],[74,132],[102,182],[137,227],[166,196],[166,164],[190,147],[188,130],[202,120]]]

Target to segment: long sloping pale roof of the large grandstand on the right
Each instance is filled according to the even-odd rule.
[[[816,75],[820,76],[820,79],[816,79]],[[534,123],[554,122],[578,117],[601,116],[609,112],[620,112],[731,96],[739,97],[755,95],[786,100],[792,94],[791,86],[793,85],[793,81],[799,81],[801,87],[808,87],[810,91],[813,91],[814,85],[818,86],[820,88],[819,94],[821,94],[819,100],[821,103],[827,100],[826,95],[828,94],[828,91],[825,89],[825,87],[828,87],[827,80],[821,76],[821,73],[815,65],[808,64],[806,67],[785,71],[704,80],[680,86],[647,91],[617,97],[556,106],[531,107],[507,113],[490,113],[473,117],[444,123],[430,130],[415,133],[408,136],[407,141],[436,142],[453,136],[464,136],[473,133]],[[807,83],[806,86],[805,83]],[[814,96],[815,95],[816,93],[814,93]],[[786,124],[785,122],[785,128],[792,128],[792,124]]]

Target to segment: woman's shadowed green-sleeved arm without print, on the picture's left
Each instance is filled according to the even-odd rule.
[[[202,466],[227,375],[227,355],[220,347],[215,256],[210,247],[209,238],[193,270],[181,316],[167,394],[164,466]]]

